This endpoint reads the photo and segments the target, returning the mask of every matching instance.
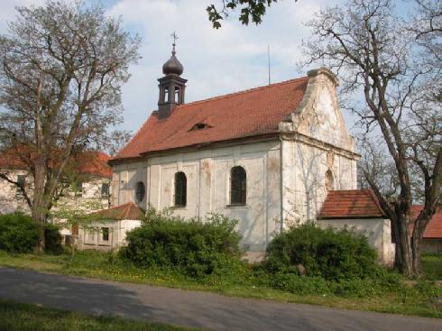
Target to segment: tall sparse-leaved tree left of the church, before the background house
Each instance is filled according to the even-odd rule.
[[[22,190],[43,249],[43,226],[70,161],[100,147],[121,122],[120,88],[140,39],[102,5],[48,1],[17,13],[0,36],[0,135],[29,170],[32,192],[1,170],[0,178]]]

